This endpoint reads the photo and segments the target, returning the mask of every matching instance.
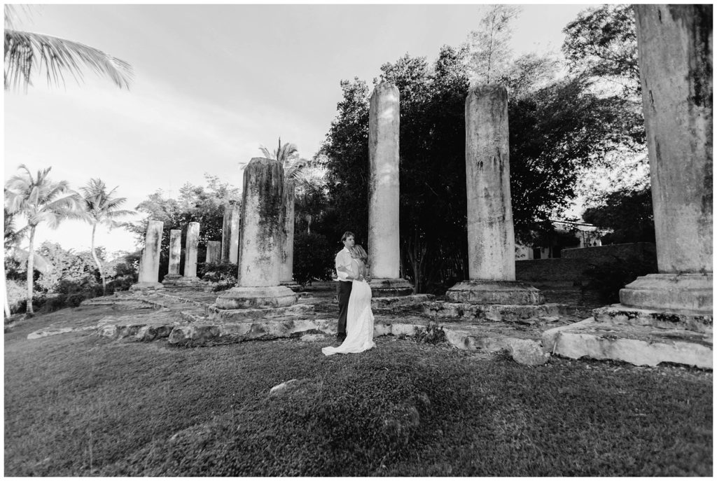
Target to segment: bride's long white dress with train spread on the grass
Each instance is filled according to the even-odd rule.
[[[356,262],[356,259],[353,259]],[[352,266],[354,267],[354,266]],[[336,353],[361,353],[376,347],[374,343],[374,313],[371,311],[371,287],[365,280],[354,280],[346,313],[346,340],[337,348],[321,349],[326,356]]]

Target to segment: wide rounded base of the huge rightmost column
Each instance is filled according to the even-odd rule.
[[[620,290],[620,303],[635,308],[712,314],[712,273],[648,274]]]

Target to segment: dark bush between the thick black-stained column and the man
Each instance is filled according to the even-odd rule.
[[[294,280],[301,285],[331,280],[335,251],[323,234],[294,232]]]

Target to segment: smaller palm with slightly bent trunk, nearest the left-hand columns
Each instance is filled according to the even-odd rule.
[[[92,224],[92,259],[95,259],[100,277],[102,278],[102,293],[107,295],[107,281],[105,280],[105,272],[102,268],[102,262],[95,252],[95,231],[98,224],[105,224],[110,229],[118,227],[119,222],[116,219],[120,217],[136,214],[135,211],[120,210],[120,206],[127,201],[124,197],[113,197],[112,195],[117,187],[111,191],[107,191],[107,186],[99,178],[92,178],[87,185],[80,187],[82,191],[82,201],[84,211],[80,213],[82,220],[88,224]]]

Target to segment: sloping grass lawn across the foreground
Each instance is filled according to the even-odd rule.
[[[212,348],[5,334],[9,476],[712,475],[712,373],[412,340]],[[299,379],[282,393],[272,386]]]

